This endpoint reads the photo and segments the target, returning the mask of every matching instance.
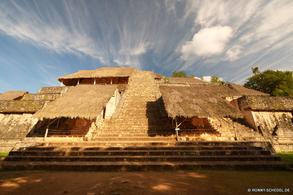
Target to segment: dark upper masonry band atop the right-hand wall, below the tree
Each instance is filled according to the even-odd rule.
[[[240,110],[293,110],[293,97],[243,96],[237,102]]]

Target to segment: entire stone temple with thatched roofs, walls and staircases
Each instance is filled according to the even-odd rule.
[[[125,67],[58,80],[0,94],[0,170],[292,167],[292,97]]]

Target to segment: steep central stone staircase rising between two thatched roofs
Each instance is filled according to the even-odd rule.
[[[101,119],[90,141],[175,141],[172,121],[161,117],[158,94],[152,73],[136,71],[123,94],[118,117]]]

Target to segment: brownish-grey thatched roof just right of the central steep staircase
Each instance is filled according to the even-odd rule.
[[[174,87],[160,86],[162,99],[168,117],[212,117],[232,116],[243,118],[243,114],[222,97],[235,96],[238,93],[228,87]]]

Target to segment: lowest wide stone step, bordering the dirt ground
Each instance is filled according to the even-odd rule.
[[[249,162],[1,162],[0,170],[70,170],[70,171],[148,171],[148,170],[184,170],[184,169],[218,169],[218,170],[274,170],[293,164],[282,161]]]

